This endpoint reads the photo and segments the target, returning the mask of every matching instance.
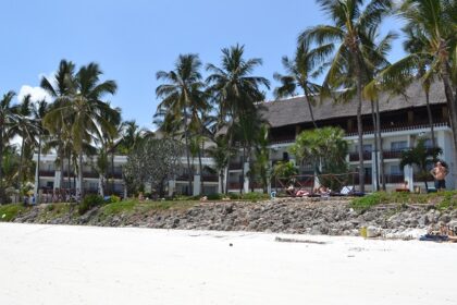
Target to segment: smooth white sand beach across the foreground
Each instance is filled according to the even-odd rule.
[[[457,244],[0,223],[0,304],[457,304]]]

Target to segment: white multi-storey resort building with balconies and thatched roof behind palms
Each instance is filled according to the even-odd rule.
[[[294,156],[288,152],[288,147],[295,143],[296,136],[305,130],[312,129],[311,115],[305,97],[294,97],[276,101],[263,102],[263,115],[270,124],[270,148],[271,162],[279,160],[292,160],[299,168],[300,174],[312,174],[309,167],[302,166]],[[420,84],[410,86],[406,96],[388,96],[382,94],[379,97],[379,107],[381,113],[382,147],[374,150],[374,127],[372,121],[372,108],[370,101],[363,101],[362,105],[362,126],[363,126],[363,168],[366,172],[366,190],[375,191],[380,183],[380,157],[384,159],[385,184],[387,190],[397,188],[408,182],[408,187],[412,191],[415,186],[423,187],[423,182],[417,179],[417,170],[411,167],[400,168],[400,154],[405,149],[415,147],[417,141],[425,138],[425,144],[431,145],[431,129],[427,110],[425,94]],[[448,110],[442,85],[436,83],[430,90],[430,108],[433,117],[433,126],[436,144],[443,149],[441,159],[449,166],[450,173],[446,178],[448,188],[455,187],[455,166],[454,164],[454,145],[452,130],[448,122]],[[346,139],[349,142],[349,154],[347,161],[353,171],[357,171],[358,160],[358,134],[357,134],[357,102],[356,100],[346,103],[335,103],[332,99],[318,101],[312,106],[313,117],[318,126],[339,126],[346,132]],[[378,158],[376,158],[378,156]],[[37,161],[37,156],[34,157]],[[378,159],[378,167],[374,160]],[[114,193],[122,194],[124,184],[122,180],[122,164],[126,162],[125,156],[115,156],[114,171],[108,173],[111,179]],[[86,160],[87,167],[84,171],[84,188],[87,192],[97,192],[99,188],[99,175],[94,170],[94,158]],[[185,158],[182,163],[186,164]],[[202,158],[203,168],[211,168],[213,160],[209,157]],[[198,159],[193,160],[195,172],[198,172]],[[37,167],[38,168],[38,167]],[[64,166],[64,168],[66,168]],[[378,168],[378,171],[376,171]],[[244,169],[244,171],[243,171]],[[193,190],[188,190],[188,174],[183,169],[182,173],[175,180],[169,181],[169,194],[211,194],[221,192],[221,184],[228,185],[230,192],[249,192],[259,190],[260,184],[249,181],[248,176],[242,179],[242,173],[248,172],[249,163],[242,162],[242,158],[234,157],[228,164],[225,179],[220,178],[203,170],[202,180],[205,190],[200,190],[200,176],[193,178]],[[60,176],[65,178],[63,185],[60,185]],[[60,172],[55,168],[55,156],[41,156],[39,172],[37,170],[37,182],[42,188],[67,188],[76,187],[77,179],[75,173]],[[358,175],[354,183],[358,184]],[[73,182],[72,182],[73,181]],[[376,183],[379,182],[379,183]],[[73,184],[72,184],[73,183]],[[243,183],[243,184],[242,184]],[[38,184],[37,184],[38,185]],[[201,192],[203,191],[203,192]]]

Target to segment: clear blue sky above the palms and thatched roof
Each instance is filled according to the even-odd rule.
[[[171,70],[180,53],[219,64],[221,48],[244,44],[263,59],[256,74],[273,82],[281,57],[294,52],[297,35],[329,23],[312,0],[2,0],[0,94],[12,89],[39,97],[39,78],[61,59],[98,62],[115,80],[110,97],[125,120],[151,127],[158,100],[156,72]],[[384,25],[398,29],[399,21]],[[403,54],[397,42],[391,59]],[[271,95],[270,95],[271,96]]]

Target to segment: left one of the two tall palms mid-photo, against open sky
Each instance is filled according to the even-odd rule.
[[[188,170],[188,192],[192,192],[194,170],[190,163],[189,125],[195,113],[205,105],[202,98],[205,84],[200,74],[201,61],[197,54],[180,54],[173,71],[157,72],[157,80],[165,83],[156,88],[156,95],[162,101],[157,108],[156,118],[163,117],[163,130],[184,130]],[[177,122],[182,124],[176,125]]]

